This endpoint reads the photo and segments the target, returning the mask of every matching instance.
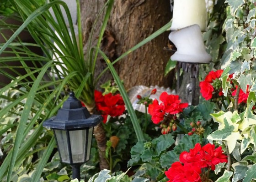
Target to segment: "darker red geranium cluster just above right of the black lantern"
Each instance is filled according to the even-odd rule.
[[[107,122],[108,115],[112,117],[120,116],[125,110],[123,98],[120,94],[112,95],[112,93],[109,93],[103,96],[100,91],[95,90],[94,98],[96,108],[101,112],[104,123]]]

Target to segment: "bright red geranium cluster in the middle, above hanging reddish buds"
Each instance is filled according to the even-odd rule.
[[[163,92],[160,95],[160,101],[162,103],[159,104],[158,100],[155,99],[152,104],[149,104],[149,114],[155,124],[163,121],[166,114],[174,115],[180,113],[188,106],[188,103],[181,103],[179,96],[168,95],[167,92]]]

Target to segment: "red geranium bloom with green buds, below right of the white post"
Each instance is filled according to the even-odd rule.
[[[222,87],[219,77],[223,73],[223,70],[210,71],[209,74],[205,77],[204,81],[201,81],[199,86],[201,88],[200,92],[202,93],[205,100],[209,100],[213,97],[213,92],[216,91],[219,93],[219,96],[222,96]]]

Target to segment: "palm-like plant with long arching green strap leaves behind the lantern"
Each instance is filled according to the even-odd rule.
[[[38,163],[37,170],[31,177],[32,182],[39,180],[43,168],[55,147],[53,137],[47,139],[47,136],[53,136],[53,133],[43,129],[42,121],[56,114],[66,99],[66,92],[74,91],[77,98],[83,101],[91,111],[94,110],[95,80],[98,80],[94,79],[94,72],[98,54],[104,58],[117,81],[131,116],[136,136],[139,141],[142,141],[144,136],[136,115],[112,64],[160,35],[170,27],[170,23],[111,63],[99,47],[111,13],[113,0],[108,0],[103,7],[104,10],[106,9],[106,13],[97,45],[93,47],[89,44],[87,49],[89,52],[86,56],[83,53],[79,0],[77,0],[78,34],[75,33],[69,8],[62,0],[50,0],[48,3],[42,3],[42,1],[37,0],[10,1],[15,14],[6,18],[20,20],[22,25],[8,25],[4,19],[0,20],[0,35],[6,40],[5,43],[0,44],[0,75],[12,80],[7,85],[0,83],[3,86],[0,89],[0,97],[8,103],[5,106],[1,106],[0,122],[5,121],[7,124],[0,126],[0,133],[5,133],[6,131],[15,132],[15,138],[10,143],[12,148],[6,154],[5,160],[0,166],[0,181],[12,181],[18,167],[29,156],[28,153],[33,155],[44,151],[40,160],[38,158],[35,159]],[[68,25],[65,23],[61,7],[64,8],[69,20]],[[52,14],[49,11],[50,8],[52,8]],[[103,9],[101,12],[103,12]],[[1,30],[5,29],[13,31],[13,35],[10,38],[1,33]],[[28,31],[35,43],[22,42],[18,36],[22,31]],[[36,54],[31,51],[32,47],[39,47],[42,50],[42,54]],[[4,53],[8,56],[2,56]],[[20,65],[10,64],[12,62],[19,62]],[[17,71],[18,68],[24,69],[25,74]],[[18,96],[6,95],[6,92],[10,89],[15,90]],[[20,108],[19,111],[21,112],[17,112],[16,108]],[[18,116],[16,124],[8,123],[7,118],[10,115]],[[31,133],[31,131],[33,132]],[[105,133],[101,124],[96,127],[95,132],[98,147],[101,151],[101,167],[104,168],[107,167],[107,164],[104,164],[104,147],[106,146],[104,142],[106,141],[104,141]],[[46,147],[35,150],[36,144],[42,138],[46,138]]]

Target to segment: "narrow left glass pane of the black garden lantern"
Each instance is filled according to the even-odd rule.
[[[59,155],[60,155],[62,162],[70,163],[66,131],[54,130],[54,132],[55,132],[56,140],[58,143]]]

